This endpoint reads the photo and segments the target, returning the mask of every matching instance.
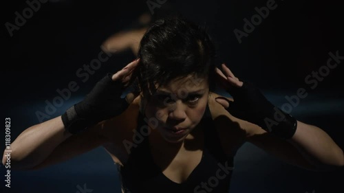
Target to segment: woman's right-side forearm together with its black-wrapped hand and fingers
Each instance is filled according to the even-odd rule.
[[[241,82],[226,65],[222,65],[222,68],[226,75],[216,69],[218,79],[224,89],[233,96],[234,102],[230,102],[226,98],[216,98],[215,100],[222,104],[231,115],[256,124],[271,135],[286,140],[295,147],[295,150],[290,150],[293,157],[288,158],[283,155],[283,152],[277,152],[275,155],[290,160],[298,159],[298,155],[301,154],[300,156],[303,156],[318,170],[330,170],[344,166],[343,150],[327,133],[316,126],[295,120],[292,115],[281,111],[268,101],[255,84],[247,81]],[[261,135],[260,129],[249,129],[247,133],[251,138],[250,141],[254,144],[263,144],[261,146],[266,150],[275,149],[275,147],[266,147],[264,141],[259,141],[264,137],[255,137]],[[275,144],[279,143],[275,142]],[[298,152],[297,155],[294,151]]]

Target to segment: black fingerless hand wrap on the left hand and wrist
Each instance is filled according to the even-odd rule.
[[[112,74],[107,75],[96,83],[85,99],[67,109],[62,121],[69,133],[76,134],[92,126],[119,115],[129,104],[125,98],[120,98],[124,87],[122,82],[113,81]]]

